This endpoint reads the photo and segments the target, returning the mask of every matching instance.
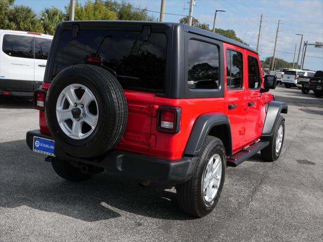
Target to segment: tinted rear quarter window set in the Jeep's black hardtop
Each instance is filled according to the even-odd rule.
[[[219,88],[219,49],[216,45],[189,41],[187,83],[192,89]]]

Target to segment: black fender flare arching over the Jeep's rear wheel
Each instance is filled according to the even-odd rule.
[[[196,156],[200,153],[204,140],[213,127],[226,125],[228,128],[228,151],[227,155],[232,153],[232,139],[230,120],[228,116],[221,112],[210,112],[200,115],[193,126],[192,132],[186,144],[184,154]]]

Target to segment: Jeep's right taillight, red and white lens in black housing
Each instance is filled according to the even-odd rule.
[[[167,133],[180,131],[181,108],[161,106],[157,112],[157,130]]]

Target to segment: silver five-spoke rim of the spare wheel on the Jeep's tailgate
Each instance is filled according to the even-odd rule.
[[[56,103],[56,116],[62,131],[70,138],[82,140],[93,133],[98,120],[94,94],[82,84],[63,89]]]

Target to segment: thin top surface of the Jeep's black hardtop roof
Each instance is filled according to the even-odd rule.
[[[205,37],[209,37],[212,39],[217,39],[220,40],[222,42],[226,42],[229,44],[233,44],[236,46],[239,46],[241,48],[250,50],[254,53],[257,54],[256,50],[254,48],[251,48],[250,46],[243,44],[241,42],[238,42],[236,40],[230,39],[228,37],[225,37],[223,35],[220,34],[216,34],[216,33],[212,33],[210,31],[204,30],[204,29],[200,29],[200,28],[196,28],[196,27],[192,27],[192,26],[188,26],[186,24],[182,24],[182,23],[171,23],[171,22],[152,22],[152,21],[125,21],[125,20],[86,20],[86,21],[66,21],[63,22],[62,24],[71,24],[71,23],[92,23],[92,24],[102,24],[102,23],[109,23],[109,24],[116,24],[116,25],[120,25],[120,26],[125,26],[125,27],[130,27],[129,25],[133,24],[133,25],[138,25],[138,24],[149,24],[149,25],[166,25],[169,27],[180,27],[183,28],[184,31],[189,32],[189,33],[193,33],[193,34],[197,34],[197,35],[201,35],[201,36],[205,36]]]

